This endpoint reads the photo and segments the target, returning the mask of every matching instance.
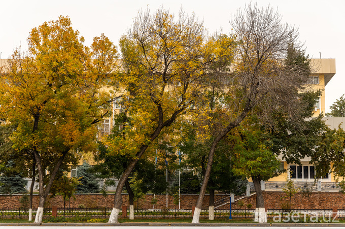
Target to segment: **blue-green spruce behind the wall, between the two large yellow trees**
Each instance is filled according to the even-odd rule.
[[[77,177],[80,185],[77,186],[77,193],[99,193],[99,184],[94,173],[91,172],[91,165],[83,162],[77,169]]]

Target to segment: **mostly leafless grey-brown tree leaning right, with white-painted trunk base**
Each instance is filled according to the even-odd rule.
[[[298,31],[281,23],[281,16],[272,8],[261,9],[249,4],[238,10],[230,21],[237,36],[237,52],[229,84],[225,90],[222,112],[227,122],[217,123],[219,131],[209,151],[208,162],[200,194],[196,203],[193,223],[199,222],[202,199],[210,178],[210,172],[218,143],[250,112],[265,118],[269,112],[283,109],[290,117],[296,117],[303,104],[298,91],[307,82],[309,69],[289,63],[285,59],[289,44],[298,47]],[[255,111],[254,111],[255,108]],[[256,184],[257,186],[257,184]],[[260,222],[267,221],[263,201],[258,201]]]

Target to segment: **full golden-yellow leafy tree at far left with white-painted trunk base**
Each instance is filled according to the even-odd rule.
[[[116,48],[104,35],[95,37],[90,49],[83,42],[71,20],[60,16],[33,28],[28,51],[16,50],[2,69],[1,115],[17,124],[14,146],[33,154],[38,169],[37,223],[61,165],[96,149],[95,124],[111,100],[100,89],[111,77]]]

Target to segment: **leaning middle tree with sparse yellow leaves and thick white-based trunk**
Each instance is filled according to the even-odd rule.
[[[122,134],[112,136],[112,149],[131,160],[117,185],[110,223],[118,221],[121,192],[135,164],[164,129],[194,109],[205,87],[199,82],[210,63],[229,48],[218,49],[213,55],[215,42],[208,39],[195,15],[181,11],[175,18],[163,9],[154,14],[140,11],[127,36],[120,40],[123,72],[118,81],[125,91],[122,105],[128,119]]]

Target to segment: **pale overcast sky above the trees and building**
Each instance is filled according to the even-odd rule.
[[[0,0],[0,52],[8,58],[15,47],[26,49],[26,38],[33,27],[59,15],[69,16],[74,29],[85,37],[89,45],[92,37],[105,33],[115,44],[141,8],[155,11],[163,6],[177,14],[180,8],[195,13],[210,33],[223,29],[229,32],[231,14],[250,1],[147,1],[147,0]],[[255,1],[252,1],[255,3]],[[327,84],[326,112],[329,106],[345,94],[345,1],[344,0],[258,0],[259,6],[270,4],[278,9],[283,22],[299,27],[300,40],[305,42],[311,58],[335,58],[336,74]]]

